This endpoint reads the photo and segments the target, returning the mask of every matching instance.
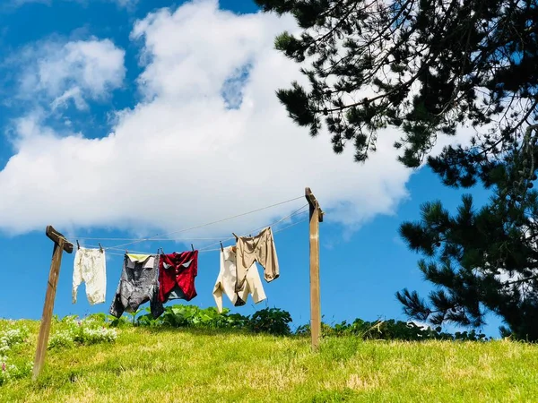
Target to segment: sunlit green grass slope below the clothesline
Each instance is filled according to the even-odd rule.
[[[33,359],[38,322],[13,354]],[[6,322],[0,321],[0,330]],[[61,324],[56,324],[61,326]],[[38,382],[1,402],[535,402],[538,346],[309,339],[226,330],[119,330],[115,343],[48,351]]]

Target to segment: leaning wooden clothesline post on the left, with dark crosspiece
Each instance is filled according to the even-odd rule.
[[[56,231],[52,226],[48,226],[45,234],[54,242],[52,252],[52,262],[50,263],[50,272],[48,273],[47,295],[43,306],[43,316],[39,327],[38,347],[36,349],[36,358],[33,367],[33,381],[37,380],[47,353],[48,334],[50,333],[50,321],[54,309],[54,300],[56,297],[56,286],[60,274],[60,264],[62,263],[62,253],[73,253],[73,244],[65,239],[65,236]]]

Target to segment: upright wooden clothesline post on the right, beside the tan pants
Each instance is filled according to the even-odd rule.
[[[323,211],[309,187],[305,197],[310,205],[310,333],[312,348],[317,350],[321,338],[321,304],[319,299],[319,223]]]

